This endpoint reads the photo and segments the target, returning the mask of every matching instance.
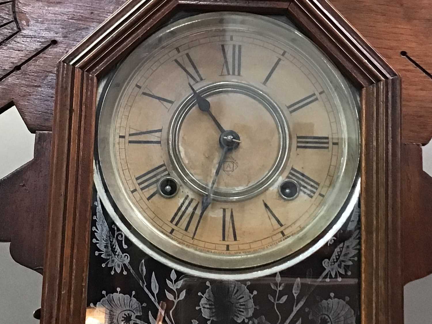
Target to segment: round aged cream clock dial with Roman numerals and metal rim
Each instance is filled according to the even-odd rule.
[[[244,14],[144,41],[108,86],[98,136],[108,190],[140,239],[215,269],[304,249],[340,215],[359,159],[337,70],[289,25]]]

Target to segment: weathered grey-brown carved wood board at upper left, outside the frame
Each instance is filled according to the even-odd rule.
[[[14,102],[32,133],[51,131],[57,62],[123,3],[124,0],[0,0],[0,12],[4,12],[1,19],[5,15],[6,20],[16,16],[20,29],[1,44],[16,28],[14,24],[0,28],[0,112],[1,107],[4,110]]]

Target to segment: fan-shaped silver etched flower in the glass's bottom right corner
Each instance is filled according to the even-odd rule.
[[[323,300],[315,305],[309,314],[309,318],[315,324],[355,324],[356,316],[351,308],[342,299],[333,298]]]

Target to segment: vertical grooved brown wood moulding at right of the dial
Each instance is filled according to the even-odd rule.
[[[403,319],[400,78],[362,89],[361,98],[361,318],[362,324],[396,324]]]

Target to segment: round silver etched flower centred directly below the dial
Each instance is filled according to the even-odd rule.
[[[247,321],[254,313],[253,296],[257,293],[250,293],[248,285],[243,285],[236,281],[218,281],[210,285],[207,281],[207,288],[200,306],[204,318],[211,321],[223,321],[228,323],[233,318],[237,323]]]

